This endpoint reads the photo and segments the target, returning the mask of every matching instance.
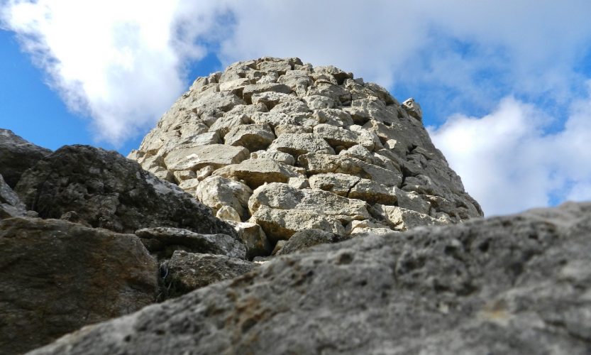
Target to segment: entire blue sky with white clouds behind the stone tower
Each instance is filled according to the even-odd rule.
[[[414,97],[488,215],[591,200],[587,0],[0,0],[0,126],[126,155],[195,77],[297,56]]]

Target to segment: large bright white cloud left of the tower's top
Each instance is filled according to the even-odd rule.
[[[17,0],[1,18],[68,107],[91,116],[97,138],[118,144],[170,107],[185,89],[184,61],[206,54],[195,38],[215,27],[217,8],[199,5]]]

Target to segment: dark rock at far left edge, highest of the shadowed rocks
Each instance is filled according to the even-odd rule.
[[[21,175],[41,158],[51,153],[49,149],[25,141],[9,129],[0,129],[0,175],[14,188]]]

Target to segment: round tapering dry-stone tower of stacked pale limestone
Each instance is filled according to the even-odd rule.
[[[346,236],[352,221],[404,231],[482,216],[421,120],[413,99],[336,67],[261,58],[197,79],[129,157],[272,244],[311,228]],[[265,183],[314,203],[258,201]]]

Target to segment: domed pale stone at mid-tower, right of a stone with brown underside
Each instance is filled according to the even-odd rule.
[[[294,158],[306,153],[334,154],[334,149],[314,133],[283,133],[269,149],[291,154]]]

